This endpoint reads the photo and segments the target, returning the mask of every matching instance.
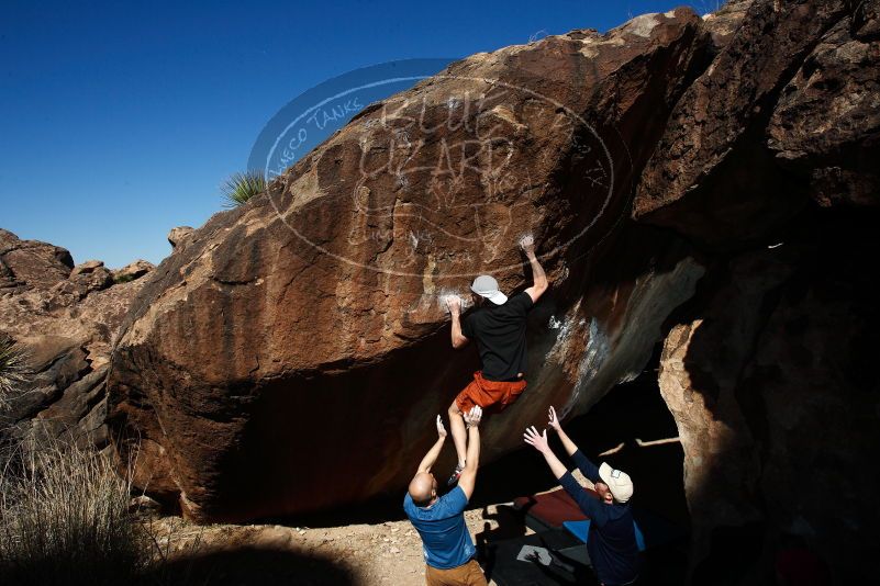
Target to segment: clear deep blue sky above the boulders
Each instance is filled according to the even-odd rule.
[[[695,8],[704,12],[715,1]],[[0,5],[0,227],[121,267],[222,209],[264,125],[303,91],[464,57],[668,1],[30,2]]]

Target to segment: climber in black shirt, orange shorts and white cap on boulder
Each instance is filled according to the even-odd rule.
[[[474,373],[474,380],[449,406],[449,425],[458,454],[458,465],[447,482],[450,486],[458,482],[467,461],[464,414],[475,405],[482,409],[493,407],[494,410],[501,410],[525,390],[526,315],[547,291],[547,275],[535,256],[534,238],[524,236],[520,239],[520,246],[532,266],[532,286],[508,298],[499,291],[494,278],[481,274],[470,285],[476,309],[464,320],[458,295],[446,297],[453,316],[453,348],[461,348],[475,340],[482,364]]]

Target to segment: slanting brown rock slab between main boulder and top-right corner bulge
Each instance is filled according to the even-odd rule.
[[[642,177],[634,217],[725,246],[759,240],[802,210],[792,187],[803,180],[761,142],[791,72],[848,10],[843,1],[753,2],[676,105]],[[867,114],[869,104],[862,108]]]

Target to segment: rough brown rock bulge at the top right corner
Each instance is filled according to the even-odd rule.
[[[880,204],[880,42],[858,33],[858,21],[846,16],[822,37],[767,131],[775,157],[824,206]]]

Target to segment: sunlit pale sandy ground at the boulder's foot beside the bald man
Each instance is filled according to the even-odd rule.
[[[498,517],[498,505],[465,512],[477,540],[499,530]],[[153,522],[163,548],[170,538],[172,572],[185,583],[424,584],[422,542],[406,519],[325,528]]]

